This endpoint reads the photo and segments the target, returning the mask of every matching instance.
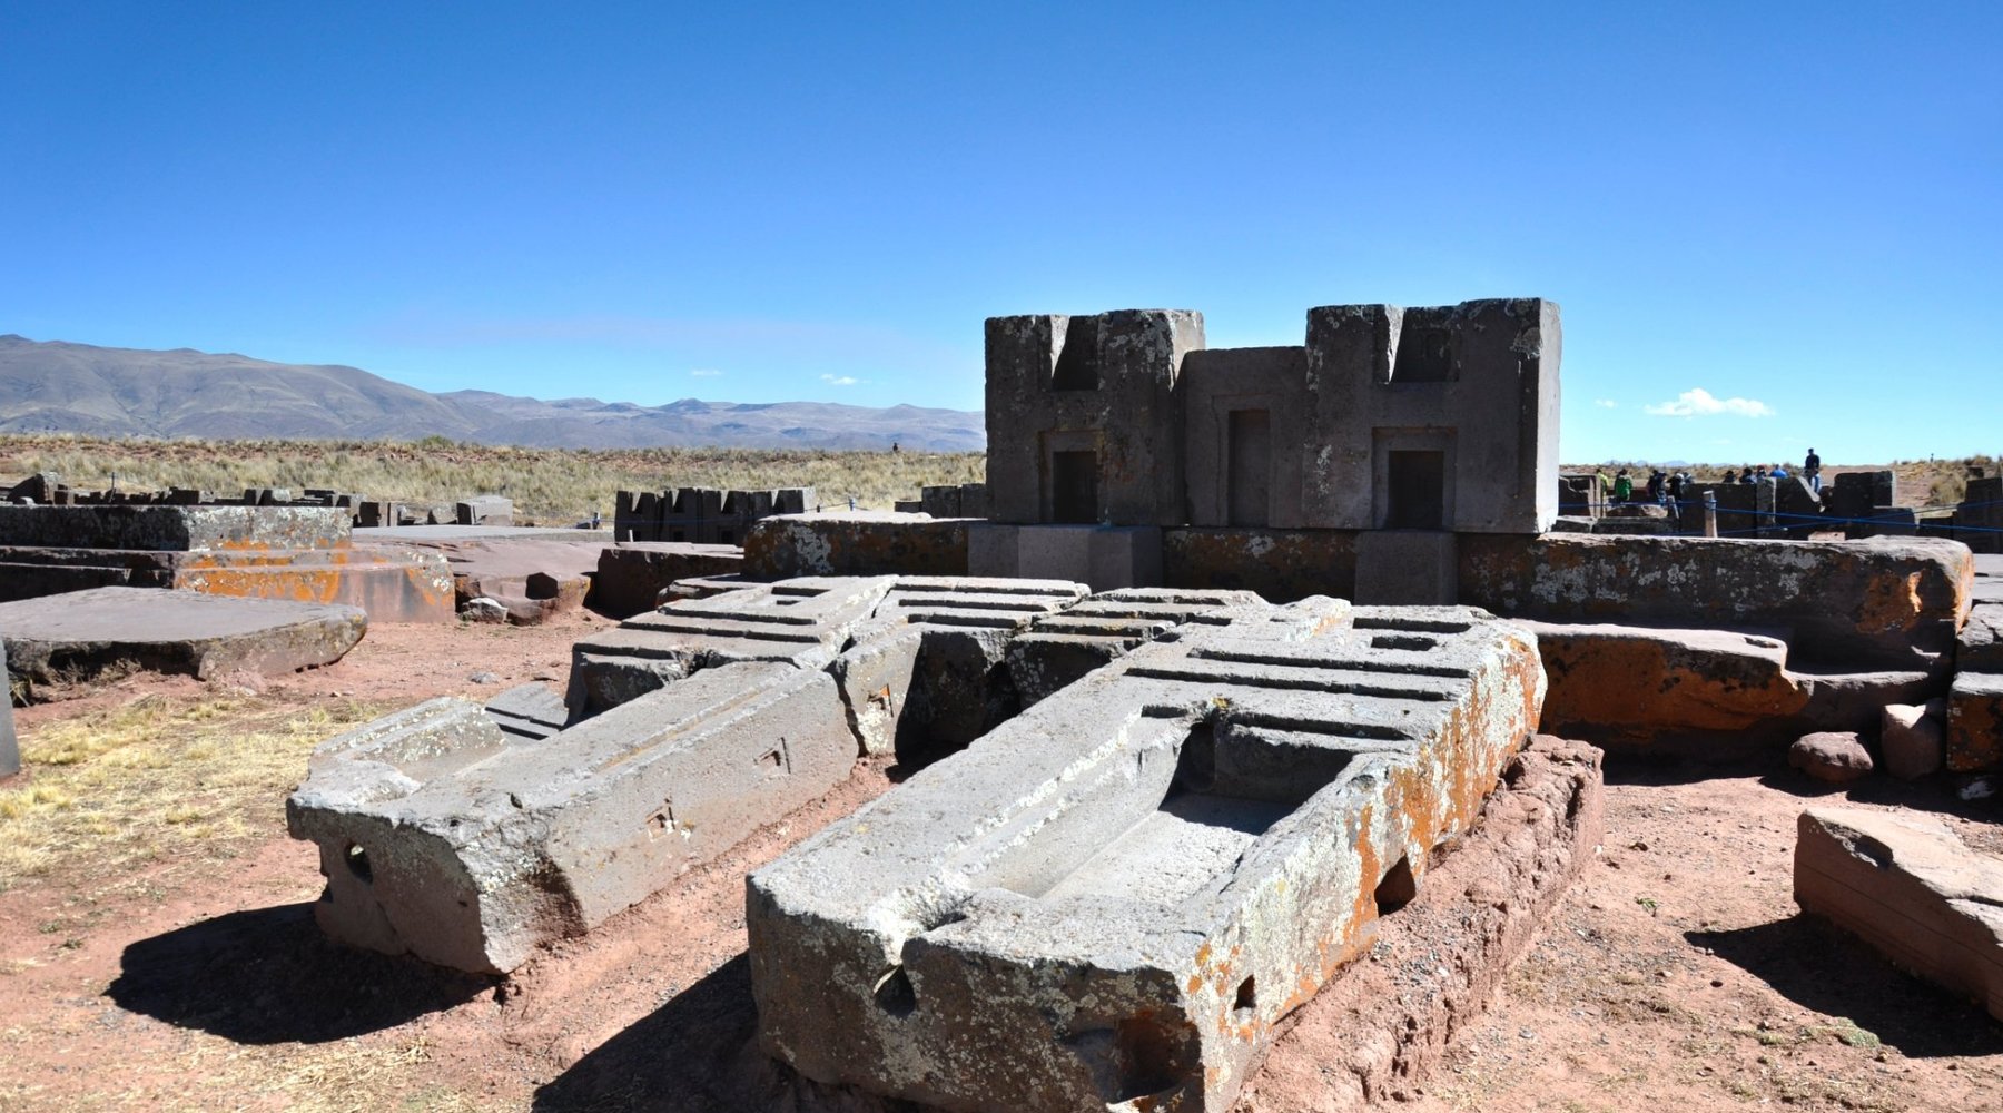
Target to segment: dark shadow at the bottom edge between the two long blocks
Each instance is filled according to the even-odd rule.
[[[737,955],[535,1091],[535,1113],[923,1113],[821,1087],[765,1057],[751,959]]]

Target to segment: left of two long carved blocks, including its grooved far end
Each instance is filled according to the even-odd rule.
[[[583,691],[443,699],[314,751],[288,803],[328,935],[509,971],[837,785],[905,735],[993,723],[1008,637],[1084,585],[877,577],[681,601],[593,643]],[[961,639],[991,641],[955,657]],[[655,671],[657,669],[657,671]],[[1012,689],[1008,689],[1012,699]],[[951,739],[947,739],[951,743]]]

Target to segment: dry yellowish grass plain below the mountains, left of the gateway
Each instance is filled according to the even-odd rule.
[[[0,482],[56,472],[84,490],[186,486],[220,496],[248,486],[353,490],[411,506],[507,494],[517,520],[611,518],[615,490],[811,486],[823,504],[889,510],[925,484],[979,482],[981,452],[817,452],[755,448],[505,448],[445,438],[387,440],[102,440],[0,436]]]

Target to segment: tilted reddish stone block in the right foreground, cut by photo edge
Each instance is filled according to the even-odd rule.
[[[1919,815],[1809,809],[1795,899],[2003,1021],[2003,859]]]

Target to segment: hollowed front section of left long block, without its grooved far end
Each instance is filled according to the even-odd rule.
[[[320,927],[477,973],[583,935],[849,775],[825,673],[707,669],[549,739],[437,699],[324,743],[286,801]]]

